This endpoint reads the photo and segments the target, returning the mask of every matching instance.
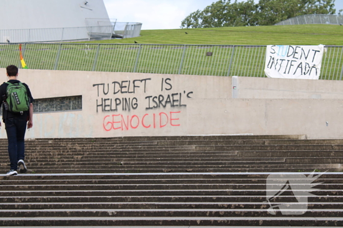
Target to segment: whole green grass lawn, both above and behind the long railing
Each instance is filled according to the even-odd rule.
[[[23,55],[30,69],[265,77],[265,45],[343,46],[342,38],[343,26],[323,24],[142,30],[131,39],[24,44]],[[326,48],[321,79],[341,78],[342,57],[343,47]],[[18,44],[0,47],[0,67],[9,64],[19,64]]]

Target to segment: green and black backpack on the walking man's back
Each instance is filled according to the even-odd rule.
[[[27,96],[27,90],[23,83],[7,82],[7,99],[9,110],[11,112],[23,112],[29,109],[30,103]]]

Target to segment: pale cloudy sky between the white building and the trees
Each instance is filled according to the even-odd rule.
[[[110,19],[143,23],[142,30],[176,29],[196,10],[203,10],[217,0],[103,0]],[[242,0],[240,0],[242,1]],[[233,2],[233,0],[232,0]],[[255,0],[258,2],[258,0]],[[335,1],[336,13],[343,0]]]

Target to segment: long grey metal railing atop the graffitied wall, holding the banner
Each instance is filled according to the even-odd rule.
[[[266,77],[264,45],[26,43],[29,69]],[[325,46],[320,79],[342,80],[343,46]],[[0,67],[20,65],[19,45],[0,44]]]

